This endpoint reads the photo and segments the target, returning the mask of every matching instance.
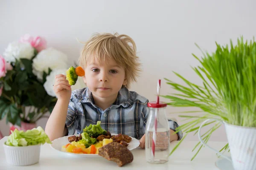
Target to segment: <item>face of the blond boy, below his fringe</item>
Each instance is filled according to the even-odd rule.
[[[122,85],[127,84],[125,69],[114,60],[101,62],[89,61],[85,68],[84,83],[100,98],[116,96]]]

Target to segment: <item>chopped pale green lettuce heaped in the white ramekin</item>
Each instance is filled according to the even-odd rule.
[[[26,132],[17,129],[11,132],[12,134],[8,137],[8,140],[5,143],[9,146],[29,146],[52,143],[47,134],[44,132],[44,129],[40,126],[33,128],[32,130],[27,130]]]

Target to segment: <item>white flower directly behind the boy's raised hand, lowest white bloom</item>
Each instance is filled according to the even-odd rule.
[[[53,70],[46,77],[46,82],[44,83],[44,89],[47,92],[47,94],[49,94],[49,96],[56,97],[56,94],[54,93],[53,86],[52,86],[52,85],[54,85],[54,82],[55,82],[55,75],[57,75],[57,74],[66,75],[66,71],[67,71],[67,69]],[[73,91],[73,90],[76,90],[79,88],[84,88],[84,87],[85,87],[85,84],[84,84],[82,77],[78,77],[76,84],[71,86],[71,90]]]

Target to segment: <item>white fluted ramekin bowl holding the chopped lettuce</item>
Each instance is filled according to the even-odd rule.
[[[6,161],[16,166],[26,166],[39,161],[41,144],[31,146],[8,146],[3,144]]]

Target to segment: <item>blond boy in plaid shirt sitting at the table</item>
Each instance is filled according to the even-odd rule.
[[[148,99],[128,90],[141,71],[131,37],[95,34],[85,43],[79,63],[87,88],[71,92],[64,75],[55,77],[58,101],[45,128],[49,138],[82,133],[85,126],[101,121],[103,129],[140,139],[144,148]],[[173,134],[177,123],[169,120],[169,125],[170,142],[180,140],[181,132]]]

